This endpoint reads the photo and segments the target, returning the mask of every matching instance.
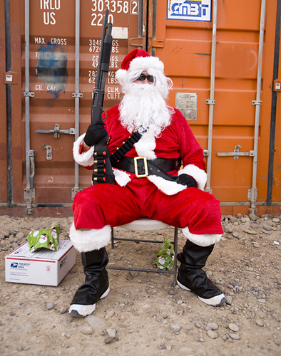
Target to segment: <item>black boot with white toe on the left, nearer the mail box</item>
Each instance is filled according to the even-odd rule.
[[[96,302],[105,298],[109,293],[106,248],[82,252],[81,258],[86,278],[85,283],[78,288],[71,301],[69,314],[74,316],[86,316],[93,313],[96,309]]]

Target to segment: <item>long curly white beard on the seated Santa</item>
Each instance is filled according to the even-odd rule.
[[[159,137],[161,132],[170,125],[173,112],[168,108],[157,85],[148,83],[131,83],[126,90],[120,105],[120,121],[129,132],[141,126],[150,135]]]

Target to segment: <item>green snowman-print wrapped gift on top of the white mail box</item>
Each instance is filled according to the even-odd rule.
[[[60,231],[59,226],[53,226],[51,229],[30,231],[29,235],[26,236],[27,241],[29,241],[29,251],[34,252],[43,247],[52,251],[58,251]]]

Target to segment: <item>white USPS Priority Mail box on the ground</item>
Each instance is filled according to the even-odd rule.
[[[29,251],[29,242],[5,256],[6,282],[58,286],[76,263],[76,251],[71,241],[59,241],[58,251],[41,248]]]

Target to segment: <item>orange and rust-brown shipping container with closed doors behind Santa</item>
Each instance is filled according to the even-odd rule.
[[[224,214],[280,215],[280,1],[14,0],[1,6],[1,212],[71,214],[91,172],[72,145],[91,121],[103,14],[113,23],[105,109],[133,48],[165,65]],[[278,6],[277,6],[278,3]],[[5,51],[4,51],[5,48]],[[6,130],[5,130],[6,129]]]

